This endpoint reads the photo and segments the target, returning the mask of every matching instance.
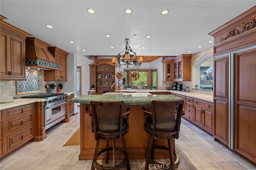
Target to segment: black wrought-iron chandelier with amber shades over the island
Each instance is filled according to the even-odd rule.
[[[129,67],[129,65],[133,65],[134,68],[138,68],[143,61],[141,56],[137,59],[137,55],[134,51],[132,51],[131,47],[128,44],[128,41],[129,39],[125,39],[125,48],[122,52],[120,52],[124,52],[124,54],[118,53],[117,58],[113,57],[112,59],[112,63],[116,66],[116,68],[121,68],[122,65],[126,65],[127,68]]]

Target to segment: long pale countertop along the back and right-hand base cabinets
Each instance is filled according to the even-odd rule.
[[[204,94],[199,94],[199,93],[192,93],[192,92],[185,92],[185,91],[178,91],[178,90],[148,90],[148,89],[143,89],[143,90],[136,90],[136,89],[131,89],[131,90],[121,90],[121,92],[124,93],[132,93],[132,92],[170,92],[170,93],[175,93],[177,95],[183,95],[187,97],[192,97],[194,99],[199,99],[207,102],[213,103],[213,96],[212,95],[204,95]]]

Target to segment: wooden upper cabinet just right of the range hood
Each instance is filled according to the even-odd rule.
[[[62,65],[61,70],[45,70],[45,81],[68,81],[67,76],[67,57],[68,52],[58,47],[48,47],[48,51],[55,57],[55,59]]]

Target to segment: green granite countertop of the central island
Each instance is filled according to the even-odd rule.
[[[124,101],[124,105],[150,105],[152,100],[175,101],[183,100],[174,95],[82,95],[70,99],[72,103],[90,104],[91,101]]]

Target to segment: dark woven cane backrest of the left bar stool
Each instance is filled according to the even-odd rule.
[[[104,134],[121,138],[124,102],[91,101],[91,107],[95,140]]]

